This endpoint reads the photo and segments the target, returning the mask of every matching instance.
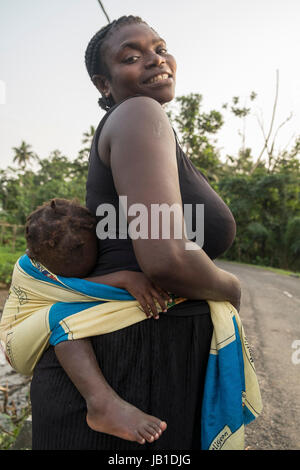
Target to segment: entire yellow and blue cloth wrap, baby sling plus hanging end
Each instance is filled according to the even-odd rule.
[[[168,306],[184,300],[174,296]],[[229,302],[207,303],[213,336],[202,402],[201,447],[243,449],[244,426],[262,410],[257,376],[236,309]],[[145,319],[126,290],[55,276],[24,255],[14,268],[0,339],[11,366],[31,375],[49,344],[117,331]]]

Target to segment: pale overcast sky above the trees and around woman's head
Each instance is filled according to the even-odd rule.
[[[246,120],[254,158],[263,147],[258,117],[269,130],[279,72],[274,132],[277,148],[300,134],[299,0],[103,0],[111,20],[141,16],[177,61],[176,96],[203,95],[203,110],[219,110],[222,158],[241,146],[242,121],[224,111],[233,96],[257,99]],[[97,0],[0,0],[0,168],[25,140],[41,158],[59,149],[73,159],[82,135],[104,115],[84,53],[107,23]],[[297,59],[298,57],[298,59]]]

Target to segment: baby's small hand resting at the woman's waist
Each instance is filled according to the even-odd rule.
[[[135,271],[126,271],[126,281],[124,288],[136,298],[147,317],[153,316],[156,320],[159,318],[159,312],[155,300],[163,312],[167,311],[167,303],[170,301],[170,295],[153,284],[144,273]]]

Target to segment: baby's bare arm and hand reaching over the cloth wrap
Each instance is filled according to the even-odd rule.
[[[140,303],[147,317],[153,315],[155,319],[159,318],[159,315],[154,299],[157,300],[162,311],[167,310],[166,306],[170,300],[170,295],[154,285],[142,272],[124,270],[102,276],[87,277],[85,280],[127,290]]]

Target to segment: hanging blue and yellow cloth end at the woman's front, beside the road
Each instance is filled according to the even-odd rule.
[[[244,427],[262,411],[253,359],[237,310],[207,301],[214,327],[202,402],[202,449],[244,449]]]

